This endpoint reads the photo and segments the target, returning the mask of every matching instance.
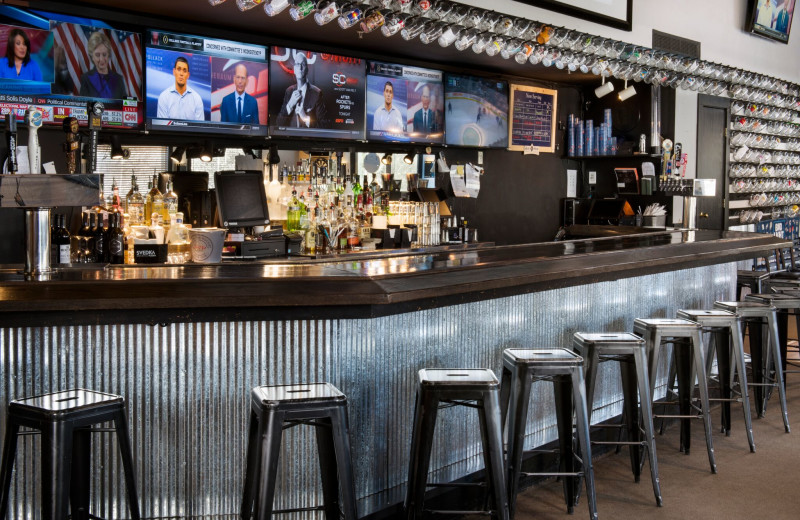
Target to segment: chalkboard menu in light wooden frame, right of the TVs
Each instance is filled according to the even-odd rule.
[[[555,90],[511,85],[509,150],[555,151],[557,98]]]

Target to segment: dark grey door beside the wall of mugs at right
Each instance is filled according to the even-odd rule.
[[[730,119],[727,98],[699,95],[697,100],[697,178],[716,179],[714,197],[697,198],[698,229],[725,229],[723,200],[728,190],[728,139],[725,130]]]

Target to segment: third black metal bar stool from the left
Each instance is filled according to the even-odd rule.
[[[491,514],[508,520],[508,502],[503,475],[503,438],[500,426],[499,382],[489,369],[428,368],[419,371],[414,429],[411,436],[411,459],[408,465],[405,512],[409,519],[420,518],[423,512],[474,514],[476,511],[436,511],[424,509],[428,487],[449,487],[451,483],[428,483],[428,468],[433,448],[433,433],[439,408],[468,406],[478,410],[483,441],[486,484],[492,497]],[[484,484],[461,484],[464,486]]]

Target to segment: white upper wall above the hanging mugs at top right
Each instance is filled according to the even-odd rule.
[[[747,0],[633,0],[630,32],[513,0],[459,2],[647,47],[656,29],[701,42],[704,60],[800,83],[800,22],[788,45],[754,36],[744,30]]]

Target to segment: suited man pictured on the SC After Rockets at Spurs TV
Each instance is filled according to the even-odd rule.
[[[326,128],[328,112],[322,91],[308,81],[308,60],[301,52],[294,54],[294,77],[297,83],[286,89],[278,126]]]

